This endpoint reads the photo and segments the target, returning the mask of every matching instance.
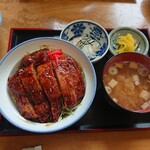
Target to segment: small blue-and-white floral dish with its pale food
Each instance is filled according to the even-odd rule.
[[[92,63],[102,59],[109,49],[107,31],[90,20],[76,20],[69,23],[62,30],[60,38],[79,47]]]

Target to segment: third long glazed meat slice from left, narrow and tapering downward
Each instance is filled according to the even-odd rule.
[[[62,111],[62,97],[51,61],[38,66],[37,73],[41,85],[48,97],[53,121],[56,122]]]

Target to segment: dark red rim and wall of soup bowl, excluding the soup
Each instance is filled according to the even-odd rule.
[[[135,110],[135,111],[126,109],[126,108],[120,106],[119,104],[117,104],[117,102],[115,102],[115,100],[113,100],[112,97],[107,93],[107,91],[105,89],[105,84],[104,84],[104,75],[108,71],[110,66],[112,66],[116,62],[122,62],[122,61],[133,61],[133,62],[136,62],[136,63],[140,63],[140,64],[144,65],[149,70],[149,74],[150,74],[150,57],[149,56],[145,56],[145,55],[140,54],[140,53],[132,53],[132,52],[126,52],[126,53],[122,53],[122,54],[118,54],[118,55],[113,56],[112,58],[110,58],[106,62],[105,66],[103,68],[103,74],[102,74],[102,84],[103,84],[102,87],[103,87],[103,90],[104,90],[104,93],[105,93],[106,101],[112,107],[114,107],[114,109],[128,111],[128,112],[134,112],[134,113],[147,113],[147,112],[150,112],[150,105],[146,109],[141,108],[140,110]],[[139,94],[139,93],[137,93],[137,94]],[[150,102],[150,98],[149,98],[149,102]]]

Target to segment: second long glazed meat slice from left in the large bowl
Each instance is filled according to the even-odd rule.
[[[48,121],[51,118],[50,106],[46,99],[45,93],[38,81],[38,77],[36,75],[33,64],[21,71],[19,73],[19,77],[23,83],[26,92],[31,97],[31,103],[34,106],[40,121]],[[37,111],[37,109],[40,111]]]

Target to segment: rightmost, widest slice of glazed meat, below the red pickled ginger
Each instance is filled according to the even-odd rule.
[[[70,56],[63,56],[58,62],[55,60],[52,62],[62,92],[64,106],[73,108],[85,92],[84,81],[77,64]]]

